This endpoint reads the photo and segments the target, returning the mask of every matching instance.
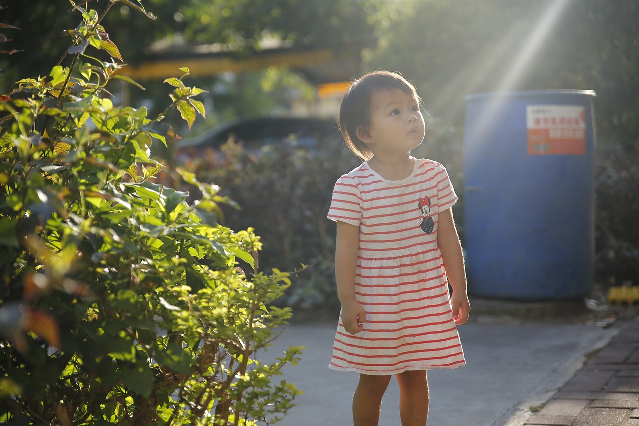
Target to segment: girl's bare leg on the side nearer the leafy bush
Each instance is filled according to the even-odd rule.
[[[390,375],[360,374],[353,395],[353,423],[355,426],[377,426],[380,420],[381,398],[390,383]]]

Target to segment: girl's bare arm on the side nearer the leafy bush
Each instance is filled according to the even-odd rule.
[[[366,311],[355,299],[355,271],[359,249],[359,227],[337,221],[337,244],[335,248],[335,278],[337,296],[342,304],[344,329],[356,335],[364,329]]]

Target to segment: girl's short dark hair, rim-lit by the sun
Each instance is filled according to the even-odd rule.
[[[346,90],[337,114],[337,126],[344,138],[344,143],[362,161],[373,158],[368,145],[357,137],[357,128],[369,127],[371,124],[371,99],[380,91],[401,90],[406,95],[421,103],[415,86],[404,77],[389,71],[375,71],[364,75]]]

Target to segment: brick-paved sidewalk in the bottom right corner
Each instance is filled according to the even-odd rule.
[[[639,426],[639,317],[523,424]]]

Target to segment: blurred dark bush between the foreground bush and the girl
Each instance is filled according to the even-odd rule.
[[[323,145],[309,151],[282,142],[255,151],[231,141],[183,164],[236,201],[222,206],[224,225],[255,228],[264,242],[261,269],[307,266],[286,292],[289,306],[337,306],[335,225],[326,216],[335,181],[359,161],[336,141]]]

